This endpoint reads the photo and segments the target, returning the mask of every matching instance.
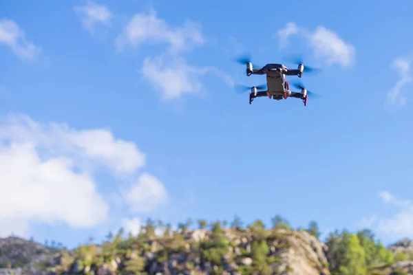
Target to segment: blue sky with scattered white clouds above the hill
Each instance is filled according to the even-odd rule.
[[[1,2],[2,236],[234,214],[413,234],[412,3],[217,3]],[[302,54],[322,97],[249,105],[243,52]]]

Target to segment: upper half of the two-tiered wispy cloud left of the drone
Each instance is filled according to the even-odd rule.
[[[132,17],[116,39],[116,48],[123,50],[126,45],[138,47],[142,43],[167,43],[169,51],[176,53],[202,45],[205,39],[200,25],[186,21],[182,27],[172,27],[151,10],[147,14],[140,13]]]

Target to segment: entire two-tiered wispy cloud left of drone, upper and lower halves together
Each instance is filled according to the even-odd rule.
[[[206,74],[213,74],[226,85],[233,86],[232,78],[220,69],[187,63],[183,54],[204,45],[206,41],[200,24],[185,21],[183,25],[169,25],[154,10],[150,10],[131,18],[118,35],[115,46],[121,52],[127,46],[136,49],[143,44],[166,45],[165,52],[144,59],[140,72],[162,100],[175,100],[203,91],[202,77]]]

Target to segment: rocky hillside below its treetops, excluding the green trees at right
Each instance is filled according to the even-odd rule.
[[[0,241],[0,263],[6,267],[0,274],[330,275],[327,249],[301,230],[194,230],[149,240],[115,238],[74,251],[8,238]]]

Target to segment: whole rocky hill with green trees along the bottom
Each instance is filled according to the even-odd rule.
[[[188,230],[155,234],[153,223],[138,236],[122,230],[101,244],[75,250],[45,246],[9,237],[0,239],[3,274],[413,274],[406,240],[386,249],[368,231],[330,234],[326,243],[312,230],[292,230],[286,224],[271,229],[256,221],[248,228]]]

